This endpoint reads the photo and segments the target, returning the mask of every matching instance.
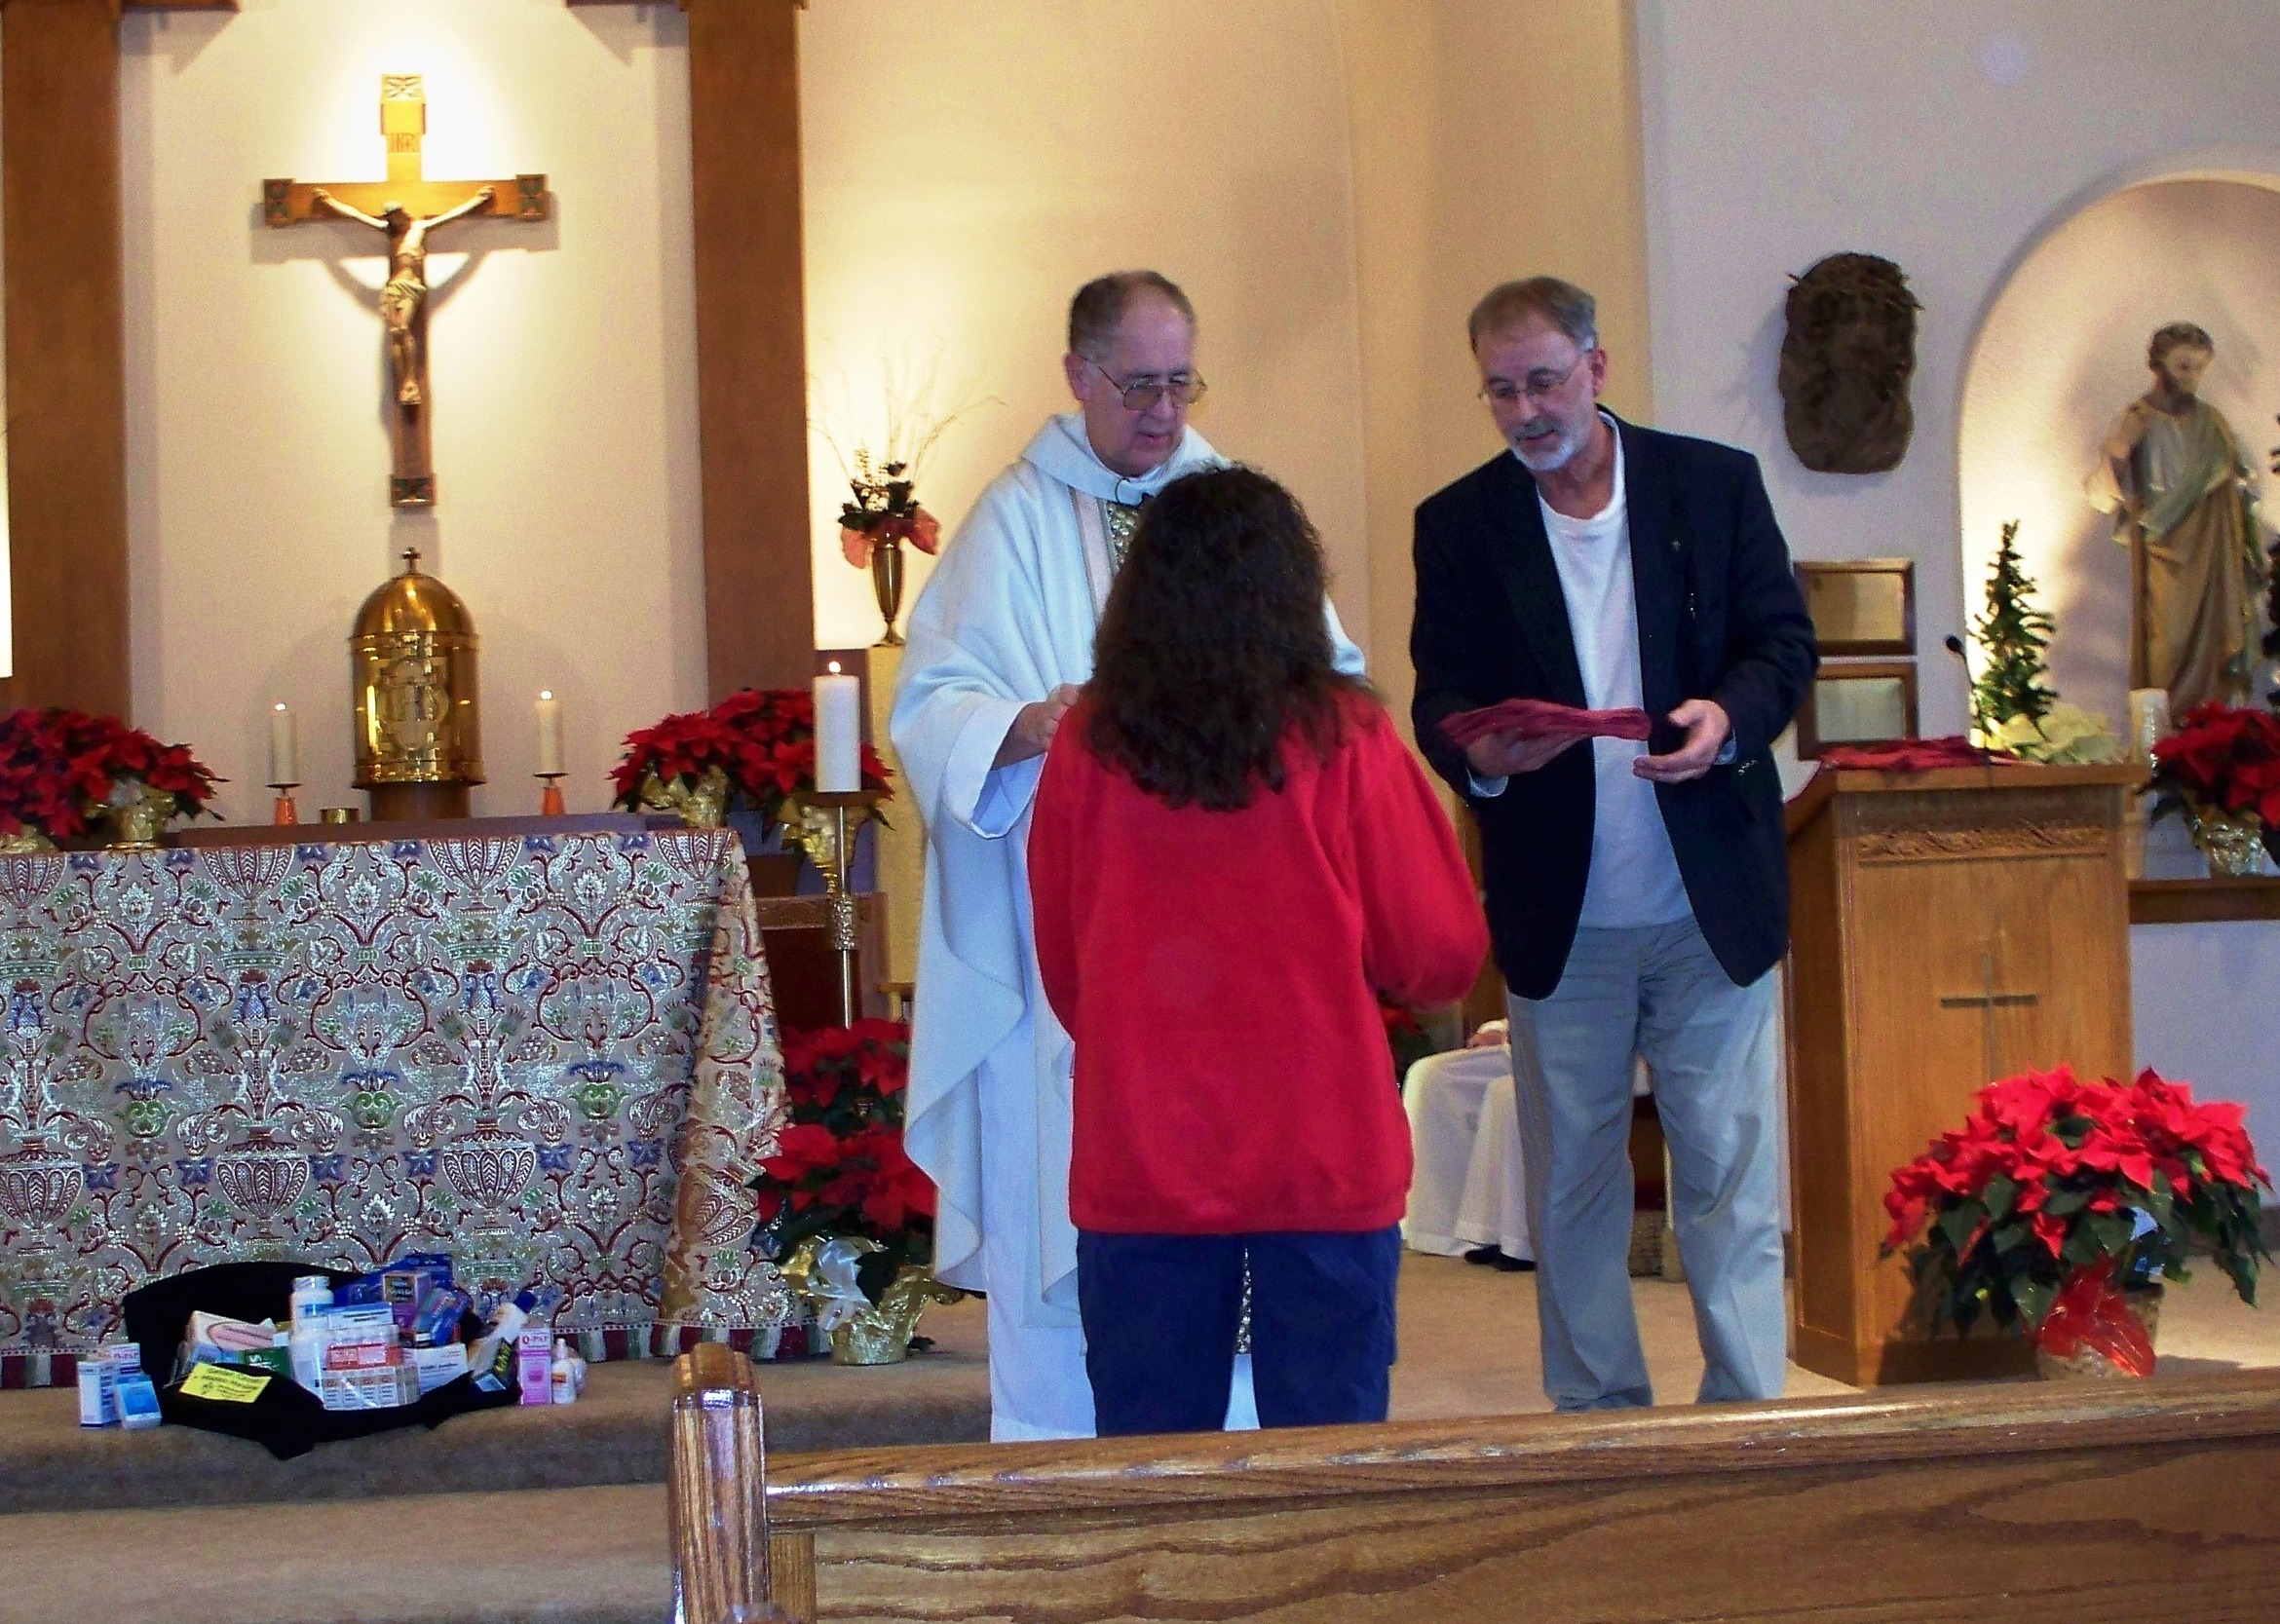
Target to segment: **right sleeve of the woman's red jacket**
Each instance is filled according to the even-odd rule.
[[[1359,709],[1359,707],[1357,707]],[[1354,721],[1354,878],[1370,985],[1430,1008],[1473,990],[1489,924],[1457,830],[1375,705]]]

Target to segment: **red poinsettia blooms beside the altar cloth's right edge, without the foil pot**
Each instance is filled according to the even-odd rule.
[[[903,1150],[907,1081],[903,1022],[784,1033],[789,1122],[752,1179],[752,1243],[764,1257],[789,1257],[816,1236],[876,1241],[855,1270],[871,1302],[905,1264],[933,1261],[935,1182]]]

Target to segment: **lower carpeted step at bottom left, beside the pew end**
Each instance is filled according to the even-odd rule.
[[[0,1517],[0,1624],[663,1624],[661,1483]]]

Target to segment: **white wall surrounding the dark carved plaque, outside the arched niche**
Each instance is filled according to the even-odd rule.
[[[1801,557],[1911,554],[1924,725],[1963,728],[1963,367],[2009,269],[2084,201],[2280,148],[2271,0],[1637,0],[1662,427],[1744,445]],[[1806,472],[1774,363],[1788,278],[1899,260],[1924,301],[1915,445]],[[2116,347],[2143,333],[2116,335]],[[1977,582],[1972,582],[1977,595]]]

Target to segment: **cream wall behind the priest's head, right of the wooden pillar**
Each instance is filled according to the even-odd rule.
[[[830,0],[800,18],[809,365],[853,397],[939,358],[942,404],[992,397],[919,497],[946,522],[1069,406],[1069,294],[1154,267],[1195,299],[1195,427],[1297,490],[1347,630],[1373,639],[1347,105],[1334,0]],[[871,643],[869,577],[809,445],[816,641]],[[912,570],[905,604],[926,579]],[[1404,623],[1407,625],[1407,618]]]

